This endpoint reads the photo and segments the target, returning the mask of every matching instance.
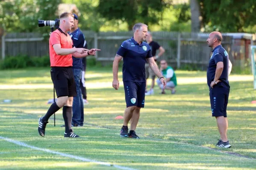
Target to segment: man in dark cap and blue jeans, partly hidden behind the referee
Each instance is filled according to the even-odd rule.
[[[72,38],[73,44],[76,48],[84,48],[86,45],[85,37],[78,28],[78,17],[74,14],[74,27],[69,32],[69,35]],[[73,99],[73,107],[72,107],[72,125],[73,126],[83,126],[84,122],[84,107],[82,100],[82,92],[80,89],[80,79],[82,75],[82,58],[73,58],[73,66],[72,70],[74,73],[76,88],[77,88],[77,96]]]

